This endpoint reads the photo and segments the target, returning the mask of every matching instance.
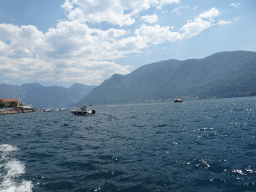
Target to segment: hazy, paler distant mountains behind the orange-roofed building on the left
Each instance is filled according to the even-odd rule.
[[[64,107],[73,105],[91,92],[96,86],[73,84],[69,88],[42,86],[39,83],[22,85],[0,84],[0,98],[19,99],[25,105],[37,108]]]

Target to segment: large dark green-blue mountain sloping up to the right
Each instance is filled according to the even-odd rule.
[[[203,59],[167,60],[128,75],[114,74],[79,103],[114,104],[256,95],[256,53],[220,52]]]

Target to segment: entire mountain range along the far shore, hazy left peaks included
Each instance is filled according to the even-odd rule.
[[[256,53],[248,51],[152,63],[128,75],[114,74],[98,87],[0,84],[1,99],[18,98],[37,108],[255,95]]]

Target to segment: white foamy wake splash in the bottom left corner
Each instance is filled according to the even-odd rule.
[[[0,189],[1,192],[32,192],[31,181],[19,179],[25,173],[25,165],[10,156],[18,148],[8,144],[0,145]]]

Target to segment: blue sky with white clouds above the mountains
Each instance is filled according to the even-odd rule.
[[[100,85],[168,59],[256,51],[255,0],[1,0],[0,84]]]

